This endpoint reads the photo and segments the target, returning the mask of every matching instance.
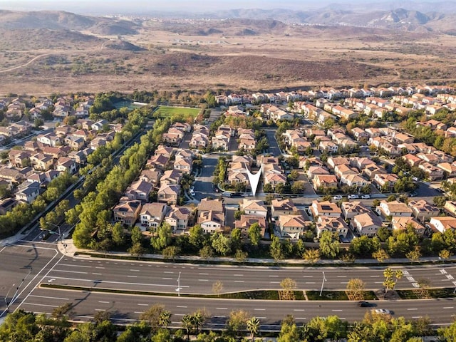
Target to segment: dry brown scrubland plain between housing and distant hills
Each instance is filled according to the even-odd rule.
[[[138,31],[4,31],[0,94],[257,91],[456,79],[456,36],[437,33],[284,26],[262,34],[198,35],[153,24]]]

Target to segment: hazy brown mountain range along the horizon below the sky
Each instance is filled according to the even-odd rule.
[[[397,1],[398,4],[412,4],[415,1]],[[447,11],[437,11],[442,7],[447,7]],[[289,9],[233,9],[230,11],[220,11],[210,14],[196,15],[192,14],[187,19],[211,19],[218,20],[241,20],[248,19],[255,26],[255,21],[271,19],[278,24],[299,24],[311,26],[356,26],[366,28],[394,29],[409,32],[439,32],[456,34],[456,1],[442,1],[434,4],[435,11],[419,11],[426,9],[430,3],[416,4],[417,9],[392,9],[378,10],[380,4],[373,4],[371,7],[364,5],[364,11],[358,10],[356,6],[351,6],[348,10],[341,4],[326,6],[318,11],[291,11]],[[382,4],[385,6],[385,3]],[[371,11],[366,11],[366,8]],[[454,9],[455,11],[451,11]],[[155,14],[160,17],[160,14]],[[163,15],[165,16],[165,15]],[[174,15],[180,17],[181,15]],[[190,15],[187,15],[187,17]],[[217,20],[218,19],[218,20]],[[253,20],[254,19],[254,20]],[[138,32],[142,23],[147,21],[145,16],[135,18],[131,16],[129,20],[107,17],[83,16],[65,11],[0,11],[0,28],[17,29],[17,28],[47,28],[51,30],[90,30],[93,33],[106,35],[129,35]],[[224,25],[221,25],[224,26]],[[207,29],[201,33],[204,35],[216,35],[221,33],[217,29],[217,24],[213,22],[207,25]],[[197,34],[197,32],[194,32]],[[246,35],[252,35],[254,32],[245,31]]]

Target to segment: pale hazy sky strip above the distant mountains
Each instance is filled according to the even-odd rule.
[[[432,3],[440,0],[423,0]],[[18,11],[58,10],[78,14],[113,14],[113,13],[150,13],[153,11],[220,11],[224,9],[294,9],[308,11],[327,6],[331,3],[366,4],[366,3],[401,4],[415,0],[0,0],[0,9]],[[416,1],[420,2],[420,1]]]

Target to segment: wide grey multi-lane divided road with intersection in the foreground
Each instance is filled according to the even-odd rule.
[[[245,309],[260,318],[262,328],[276,330],[287,314],[299,323],[314,316],[337,315],[348,321],[361,320],[366,308],[358,308],[346,301],[240,301],[229,299],[201,299],[185,296],[133,296],[102,294],[89,291],[63,291],[39,288],[38,284],[67,284],[90,288],[108,288],[166,292],[176,294],[180,274],[180,294],[212,294],[214,281],[222,281],[224,292],[249,289],[280,289],[284,278],[294,279],[298,289],[345,289],[351,278],[361,278],[367,289],[380,289],[384,267],[268,267],[216,266],[199,264],[167,264],[145,261],[74,258],[56,251],[55,244],[25,243],[1,249],[1,259],[8,259],[1,270],[0,314],[25,309],[51,314],[53,309],[67,302],[74,304],[74,319],[93,317],[96,311],[108,310],[115,321],[128,323],[138,319],[148,306],[165,304],[173,314],[173,325],[179,326],[180,317],[197,309],[206,308],[212,318],[209,326],[223,324],[234,309]],[[396,288],[413,289],[421,278],[430,279],[432,286],[450,287],[456,267],[407,266],[400,267],[404,276]],[[378,308],[391,309],[397,316],[418,318],[427,315],[436,324],[447,324],[456,313],[453,299],[422,301],[375,301]],[[368,309],[367,309],[368,310]],[[1,314],[1,316],[4,316]]]

